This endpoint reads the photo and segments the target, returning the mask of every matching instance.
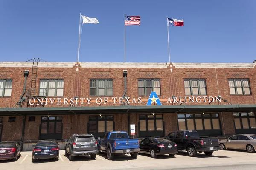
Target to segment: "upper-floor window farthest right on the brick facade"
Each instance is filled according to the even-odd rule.
[[[228,79],[231,95],[250,95],[249,79]]]

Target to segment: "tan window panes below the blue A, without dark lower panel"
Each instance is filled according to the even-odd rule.
[[[140,115],[140,131],[163,131],[163,115]]]

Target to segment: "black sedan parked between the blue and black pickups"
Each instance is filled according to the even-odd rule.
[[[175,142],[172,142],[163,137],[148,137],[140,142],[140,153],[150,154],[152,158],[157,155],[169,154],[174,156],[178,153],[178,147]]]

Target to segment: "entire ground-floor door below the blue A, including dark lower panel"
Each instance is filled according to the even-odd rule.
[[[150,137],[150,136],[164,136],[164,125],[163,115],[149,114],[140,115],[140,136],[139,137]]]

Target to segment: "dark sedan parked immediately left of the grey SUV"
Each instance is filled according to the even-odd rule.
[[[59,147],[55,140],[41,140],[38,141],[33,149],[32,162],[38,159],[55,159],[59,158]]]

